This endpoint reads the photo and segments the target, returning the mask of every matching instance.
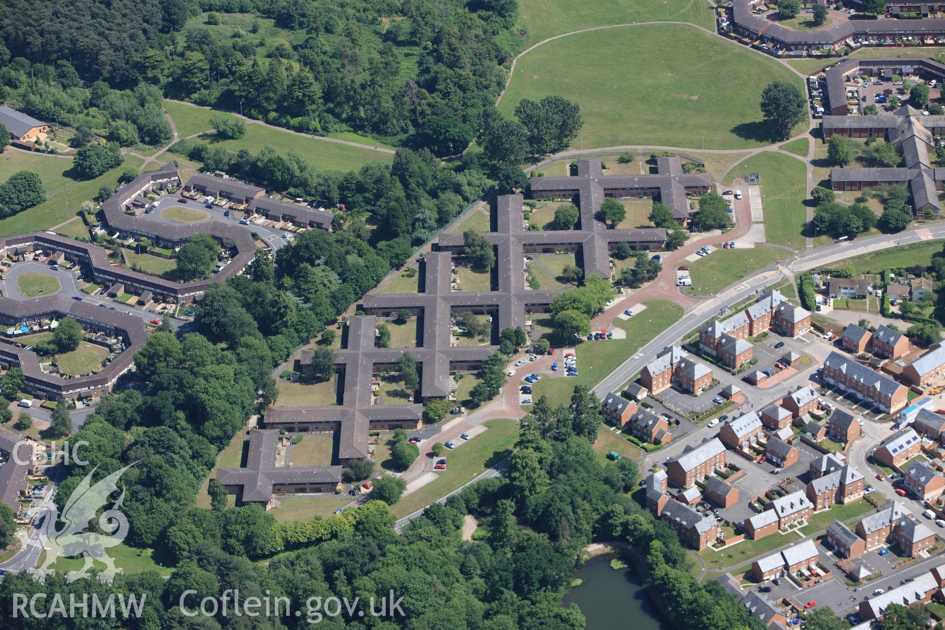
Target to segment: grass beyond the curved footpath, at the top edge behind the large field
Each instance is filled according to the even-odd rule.
[[[522,0],[519,22],[525,46],[581,28],[631,22],[690,22],[713,28],[712,7],[705,0]]]

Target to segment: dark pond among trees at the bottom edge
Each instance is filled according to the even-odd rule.
[[[616,557],[620,556],[607,553],[585,562],[574,575],[583,582],[568,591],[562,605],[577,604],[587,619],[588,630],[669,630],[646,601],[633,572],[629,568],[610,569],[610,560]]]

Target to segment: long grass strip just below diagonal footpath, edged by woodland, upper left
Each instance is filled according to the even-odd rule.
[[[322,170],[356,171],[368,162],[390,163],[394,160],[392,153],[359,146],[339,145],[328,140],[317,140],[291,131],[255,124],[247,124],[246,135],[238,140],[219,140],[214,134],[199,136],[198,139],[199,142],[208,142],[213,148],[222,146],[232,153],[245,148],[250,153],[256,154],[266,145],[282,147],[280,153],[291,148],[313,166]],[[366,141],[367,143],[377,144],[373,141]]]

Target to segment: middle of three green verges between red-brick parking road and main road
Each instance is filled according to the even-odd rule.
[[[533,385],[533,400],[546,396],[552,407],[567,405],[576,385],[593,387],[627,361],[634,352],[682,316],[682,307],[666,299],[644,302],[646,310],[629,319],[615,319],[614,326],[627,331],[626,339],[584,341],[577,344],[577,376],[546,376]],[[558,372],[560,373],[560,372]]]

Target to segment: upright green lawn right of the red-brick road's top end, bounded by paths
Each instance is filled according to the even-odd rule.
[[[765,151],[731,169],[725,185],[748,173],[762,179],[762,209],[765,213],[765,241],[776,245],[804,248],[807,223],[807,169],[804,162],[783,153]],[[782,258],[785,258],[782,253]]]

